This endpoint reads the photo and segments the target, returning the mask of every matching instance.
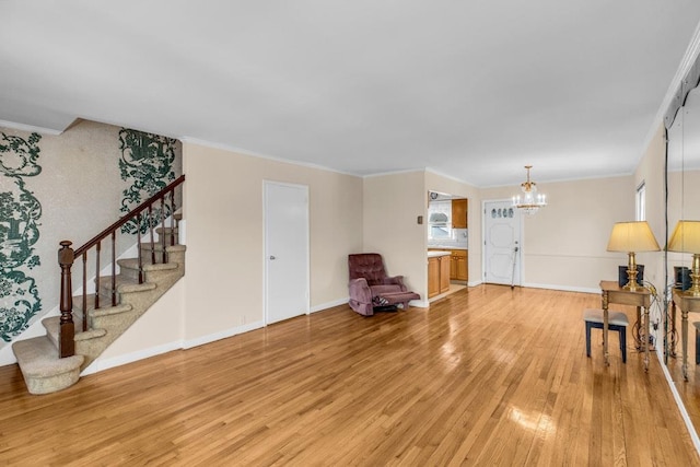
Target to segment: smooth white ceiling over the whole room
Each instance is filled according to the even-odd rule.
[[[629,174],[697,0],[0,0],[0,120],[359,175]],[[656,121],[658,124],[658,121]]]

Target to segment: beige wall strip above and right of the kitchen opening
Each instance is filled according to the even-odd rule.
[[[467,211],[468,224],[468,268],[469,285],[482,282],[483,269],[481,264],[481,194],[477,187],[448,178],[434,172],[425,172],[425,191],[439,191],[455,195],[469,200]],[[425,201],[427,202],[427,201]],[[427,219],[427,218],[425,218]],[[428,235],[428,230],[425,230]]]

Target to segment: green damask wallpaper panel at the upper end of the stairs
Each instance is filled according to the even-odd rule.
[[[119,131],[119,171],[121,179],[131,182],[131,186],[122,191],[121,212],[129,212],[142,201],[145,201],[175,179],[173,163],[175,162],[175,145],[177,140],[159,135],[122,128]],[[165,206],[165,217],[171,214],[170,206]],[[158,224],[163,213],[160,208],[153,211],[153,223]],[[136,233],[136,222],[129,222],[121,227],[122,233]],[[140,225],[141,233],[148,230],[148,219],[144,217]]]

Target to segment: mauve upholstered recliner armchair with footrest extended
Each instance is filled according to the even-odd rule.
[[[348,255],[350,272],[350,307],[364,316],[374,314],[375,306],[401,305],[420,300],[420,295],[404,285],[404,277],[387,277],[382,255],[360,253]]]

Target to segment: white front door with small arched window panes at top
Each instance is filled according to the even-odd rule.
[[[483,202],[483,279],[521,285],[522,214],[509,201]]]

